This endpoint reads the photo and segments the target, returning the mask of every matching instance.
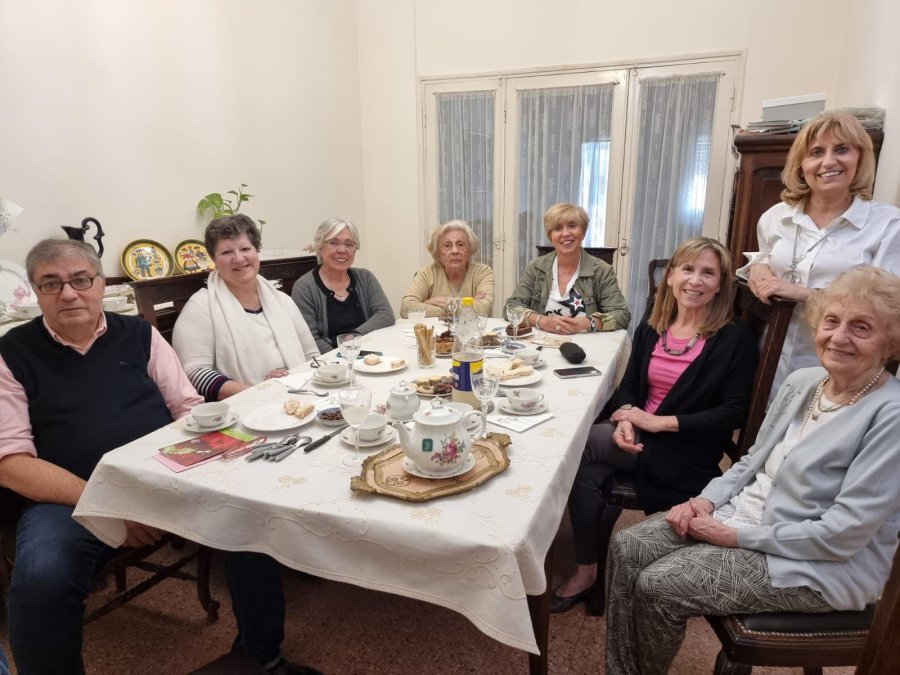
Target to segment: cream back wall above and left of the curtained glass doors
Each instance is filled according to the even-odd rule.
[[[357,0],[360,61],[377,64],[360,70],[366,221],[390,228],[396,252],[370,260],[370,267],[399,304],[424,259],[419,185],[412,180],[418,167],[411,165],[419,129],[405,122],[415,105],[414,77],[746,50],[741,119],[757,120],[763,99],[825,91],[832,104],[849,4]],[[370,100],[387,114],[369,116]],[[375,147],[381,156],[372,158]]]

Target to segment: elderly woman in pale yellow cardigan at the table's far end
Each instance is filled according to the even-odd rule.
[[[400,316],[425,312],[440,316],[448,298],[475,298],[475,313],[490,316],[494,310],[494,271],[471,261],[478,251],[478,236],[465,221],[438,225],[428,240],[434,263],[423,267],[400,303]]]

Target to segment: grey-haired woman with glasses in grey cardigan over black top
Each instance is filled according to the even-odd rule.
[[[344,333],[365,335],[394,325],[394,310],[369,270],[354,267],[359,231],[349,220],[329,218],[316,228],[319,266],[294,284],[291,297],[309,324],[321,352]]]

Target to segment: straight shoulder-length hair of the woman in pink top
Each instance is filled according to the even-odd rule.
[[[662,279],[659,280],[653,311],[650,313],[647,323],[660,335],[678,315],[678,302],[675,300],[675,293],[667,283],[669,275],[676,267],[696,260],[703,251],[712,251],[715,254],[719,260],[721,274],[719,277],[719,292],[706,307],[706,317],[700,326],[700,335],[709,337],[731,323],[731,319],[734,316],[734,268],[731,265],[731,254],[716,239],[694,237],[682,242],[675,249],[672,257],[669,258],[669,264],[666,265],[666,271]]]

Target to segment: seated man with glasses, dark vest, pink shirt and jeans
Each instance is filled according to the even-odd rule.
[[[84,601],[113,549],[72,519],[74,506],[105,452],[203,399],[156,329],[103,312],[106,283],[91,246],[44,240],[28,253],[26,269],[43,316],[0,337],[0,486],[23,498],[10,646],[21,675],[81,673]],[[135,522],[126,527],[126,546],[162,534]],[[283,618],[275,626],[260,618],[283,617],[280,581],[269,580],[277,564],[260,554],[229,558],[235,647],[274,672],[315,672],[285,670]]]

